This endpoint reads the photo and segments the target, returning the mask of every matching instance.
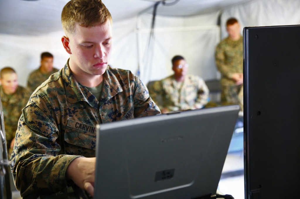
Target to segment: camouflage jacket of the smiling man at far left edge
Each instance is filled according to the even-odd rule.
[[[31,92],[22,86],[18,86],[16,92],[8,97],[0,86],[0,96],[3,108],[4,127],[7,144],[15,137],[18,127],[18,120],[29,100]],[[9,142],[9,143],[8,143]]]

